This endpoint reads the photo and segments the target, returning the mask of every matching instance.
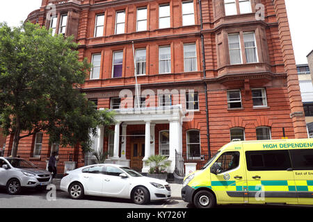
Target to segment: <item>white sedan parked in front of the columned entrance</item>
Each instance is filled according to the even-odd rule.
[[[128,198],[136,204],[170,198],[170,185],[164,180],[142,176],[129,167],[95,164],[81,167],[62,178],[60,188],[71,198],[84,195]]]

